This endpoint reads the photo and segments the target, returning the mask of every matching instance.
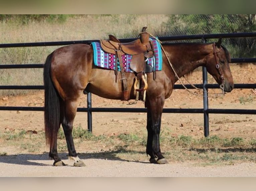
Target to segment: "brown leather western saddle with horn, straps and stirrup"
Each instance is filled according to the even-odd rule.
[[[102,49],[109,53],[115,54],[116,58],[119,60],[120,72],[121,72],[121,82],[122,82],[122,96],[121,100],[129,100],[130,92],[127,89],[127,78],[125,77],[125,72],[123,68],[122,55],[128,54],[132,55],[130,68],[134,71],[135,83],[134,90],[136,90],[136,99],[141,99],[145,101],[145,93],[147,89],[147,79],[146,79],[146,60],[154,55],[153,45],[149,40],[149,33],[146,32],[147,27],[142,28],[140,33],[140,38],[129,43],[121,43],[115,36],[109,35],[109,40],[100,40]],[[117,81],[117,59],[115,65],[115,75]]]

